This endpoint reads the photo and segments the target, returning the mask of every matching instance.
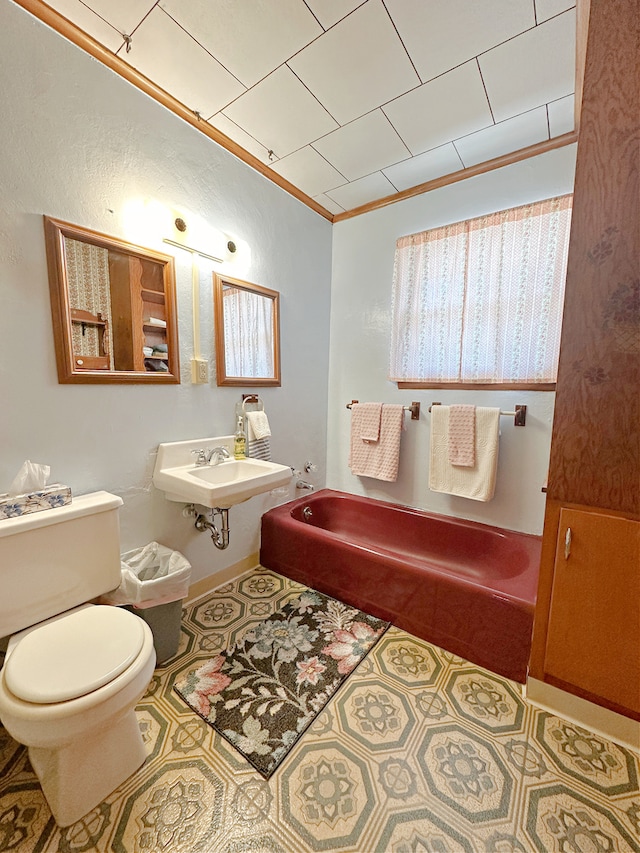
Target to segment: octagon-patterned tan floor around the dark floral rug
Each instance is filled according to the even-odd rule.
[[[300,589],[257,569],[185,608],[137,709],[145,765],[67,829],[0,727],[0,851],[640,851],[637,756],[396,628],[265,782],[172,685]]]

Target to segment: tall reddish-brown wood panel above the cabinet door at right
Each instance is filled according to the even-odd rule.
[[[593,0],[548,496],[640,507],[638,2]]]

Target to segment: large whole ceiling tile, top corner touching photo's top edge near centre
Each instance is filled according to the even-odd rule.
[[[381,0],[368,0],[288,64],[340,124],[420,83]]]

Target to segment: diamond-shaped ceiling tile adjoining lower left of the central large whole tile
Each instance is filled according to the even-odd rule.
[[[286,65],[241,95],[224,114],[278,159],[337,127]]]

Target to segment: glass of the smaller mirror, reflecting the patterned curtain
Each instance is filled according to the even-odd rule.
[[[227,376],[273,376],[273,300],[235,287],[222,298]]]

